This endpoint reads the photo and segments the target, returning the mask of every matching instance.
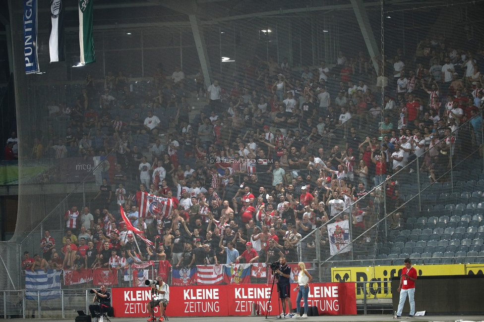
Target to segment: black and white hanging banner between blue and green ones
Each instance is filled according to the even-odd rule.
[[[62,0],[51,0],[51,36],[49,38],[51,62],[65,60],[64,11]]]

